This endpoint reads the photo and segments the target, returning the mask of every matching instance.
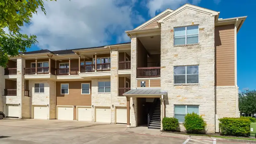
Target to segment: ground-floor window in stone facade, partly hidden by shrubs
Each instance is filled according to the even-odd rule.
[[[199,114],[199,106],[189,106],[189,105],[174,105],[174,117],[179,120],[179,122],[184,122],[185,115],[188,113]]]

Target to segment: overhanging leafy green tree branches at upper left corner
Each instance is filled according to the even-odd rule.
[[[30,23],[39,7],[46,14],[44,0],[0,0],[0,66],[6,67],[8,55],[17,56],[37,42],[36,36],[21,34],[20,27]]]

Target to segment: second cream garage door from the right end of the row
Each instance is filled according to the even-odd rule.
[[[111,123],[110,108],[96,108],[96,122]]]

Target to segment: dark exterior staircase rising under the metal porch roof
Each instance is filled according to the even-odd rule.
[[[148,128],[161,129],[161,100],[160,99],[157,99],[155,103],[155,109],[149,121]]]

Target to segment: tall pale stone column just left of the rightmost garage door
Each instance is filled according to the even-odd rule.
[[[111,123],[115,123],[115,101],[118,97],[118,50],[111,49]]]

